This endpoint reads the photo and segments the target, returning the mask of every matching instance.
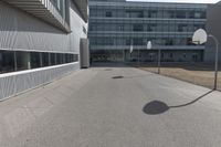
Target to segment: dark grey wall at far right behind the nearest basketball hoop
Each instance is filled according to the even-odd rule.
[[[218,38],[221,45],[221,6],[210,4],[208,7],[208,21],[207,21],[207,32],[213,34]],[[214,41],[209,39],[204,50],[204,61],[213,62],[215,54]],[[219,49],[219,61],[221,62],[221,48]]]

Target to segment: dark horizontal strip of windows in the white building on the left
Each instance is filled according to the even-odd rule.
[[[0,50],[0,73],[45,67],[78,61],[77,54]]]

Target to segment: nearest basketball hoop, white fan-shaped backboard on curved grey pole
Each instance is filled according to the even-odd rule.
[[[214,40],[215,43],[215,62],[214,62],[214,85],[213,90],[217,90],[218,87],[218,60],[219,60],[219,41],[218,39],[212,34],[207,34],[207,32],[203,29],[199,29],[194,32],[192,35],[192,43],[194,44],[203,44],[208,41],[208,38],[211,38]]]

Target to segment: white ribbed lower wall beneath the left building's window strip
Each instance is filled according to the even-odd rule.
[[[70,64],[50,70],[42,70],[0,78],[0,99],[13,96],[27,90],[61,78],[80,69],[78,64]]]

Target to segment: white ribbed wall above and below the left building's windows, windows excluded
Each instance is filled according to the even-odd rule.
[[[51,24],[0,1],[0,50],[54,51],[80,53],[81,38],[87,38],[74,3],[70,6],[70,27],[65,33]],[[0,74],[0,99],[49,83],[66,73],[78,70],[80,63]]]

